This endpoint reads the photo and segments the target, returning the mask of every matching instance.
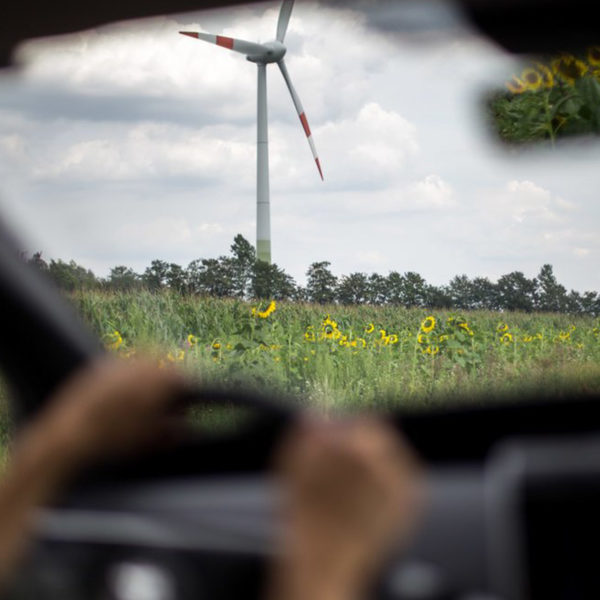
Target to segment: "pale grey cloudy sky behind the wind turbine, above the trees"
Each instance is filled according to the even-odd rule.
[[[177,32],[264,42],[277,14],[265,3],[25,44],[0,79],[0,204],[24,245],[104,275],[226,254],[238,232],[254,243],[256,67]],[[286,62],[325,181],[272,66],[273,260],[299,282],[329,260],[435,284],[549,262],[567,287],[600,290],[598,145],[498,147],[482,92],[520,66],[462,27],[412,19],[294,9]]]

